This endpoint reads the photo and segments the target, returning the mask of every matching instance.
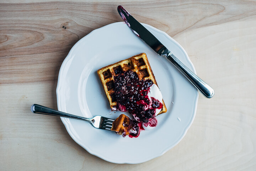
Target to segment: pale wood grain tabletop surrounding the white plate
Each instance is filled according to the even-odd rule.
[[[57,109],[63,60],[94,29],[122,21],[118,5],[180,43],[215,90],[199,95],[178,145],[135,165],[89,154],[59,117],[30,112],[34,103]],[[0,170],[256,170],[255,54],[256,1],[1,0]]]

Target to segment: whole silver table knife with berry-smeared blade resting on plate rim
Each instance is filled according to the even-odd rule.
[[[166,57],[172,62],[189,81],[201,92],[206,98],[212,98],[214,90],[206,82],[195,75],[188,67],[186,67],[177,57],[172,54],[152,33],[150,33],[142,24],[140,24],[130,13],[124,9],[121,5],[117,7],[119,15],[127,26],[142,39],[146,44],[150,46],[158,55]]]

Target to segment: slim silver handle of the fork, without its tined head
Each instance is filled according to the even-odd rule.
[[[68,118],[78,119],[78,120],[87,121],[87,122],[92,123],[92,118],[86,118],[86,117],[67,114],[65,112],[54,110],[49,107],[38,105],[38,104],[33,104],[30,109],[31,109],[31,112],[33,112],[34,114],[68,117]]]

